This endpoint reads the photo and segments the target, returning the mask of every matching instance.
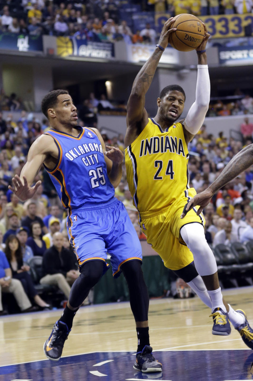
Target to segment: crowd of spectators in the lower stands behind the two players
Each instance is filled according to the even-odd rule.
[[[91,94],[91,106],[96,98]],[[86,114],[85,114],[86,115]],[[92,117],[92,115],[90,115]],[[90,123],[94,126],[94,121]],[[79,120],[80,125],[84,125]],[[86,121],[85,121],[86,124]],[[88,123],[89,124],[89,123]],[[41,285],[54,285],[67,299],[72,283],[78,276],[77,260],[70,247],[66,231],[66,210],[56,195],[53,184],[42,168],[35,181],[41,179],[33,199],[21,203],[9,189],[14,174],[20,175],[27,152],[34,140],[49,127],[46,120],[28,120],[22,111],[18,120],[0,112],[0,290],[13,293],[21,311],[50,308],[40,298],[29,275],[29,261],[43,258]],[[253,124],[242,117],[242,141],[208,134],[205,125],[189,144],[190,186],[197,192],[215,180],[224,166],[244,146],[252,143]],[[124,136],[109,138],[107,130],[101,135],[107,145],[124,152]],[[123,202],[139,239],[146,239],[138,224],[138,213],[128,189],[125,166],[116,197]],[[253,239],[253,169],[249,168],[221,189],[204,211],[206,238],[212,245],[220,242],[245,242]],[[5,314],[0,298],[0,315]]]

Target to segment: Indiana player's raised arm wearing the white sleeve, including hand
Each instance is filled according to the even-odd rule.
[[[205,52],[205,47],[210,34],[207,32],[205,24],[203,22],[202,24],[205,28],[205,35],[203,42],[196,49],[198,54],[196,100],[191,106],[183,123],[186,144],[193,139],[194,135],[197,134],[202,126],[210,102],[210,78],[207,66],[207,53]]]

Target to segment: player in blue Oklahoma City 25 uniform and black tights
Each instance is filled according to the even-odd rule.
[[[141,245],[114,188],[122,176],[122,152],[106,147],[95,128],[77,126],[77,112],[65,90],[54,90],[42,100],[42,111],[50,130],[30,147],[20,177],[10,186],[20,200],[35,194],[40,181],[31,186],[42,164],[68,209],[67,231],[78,259],[80,276],[72,285],[69,301],[44,344],[50,360],[58,361],[73,318],[90,289],[107,271],[111,255],[113,276],[122,272],[127,280],[130,306],[136,321],[138,349],[134,368],[143,372],[162,371],[149,345],[149,295],[141,270]]]

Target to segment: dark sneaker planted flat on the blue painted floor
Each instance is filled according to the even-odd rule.
[[[162,371],[162,364],[155,360],[152,355],[152,347],[145,345],[142,352],[136,353],[134,369],[141,370],[144,373],[154,373]]]

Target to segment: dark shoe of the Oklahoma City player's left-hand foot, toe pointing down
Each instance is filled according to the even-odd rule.
[[[59,320],[54,324],[53,331],[45,341],[43,347],[44,353],[48,359],[58,361],[61,358],[62,349],[70,331],[71,330],[69,330],[67,324],[62,323]]]

